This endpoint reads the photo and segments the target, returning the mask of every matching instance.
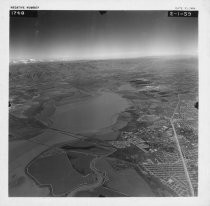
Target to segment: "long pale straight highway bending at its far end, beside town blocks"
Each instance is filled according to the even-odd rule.
[[[173,132],[174,132],[174,137],[175,137],[176,145],[177,145],[178,151],[179,151],[180,156],[181,156],[181,160],[182,160],[182,164],[183,164],[185,176],[186,176],[187,182],[188,182],[188,184],[189,184],[190,194],[191,194],[192,196],[194,196],[194,189],[193,189],[193,186],[192,186],[192,183],[191,183],[191,180],[190,180],[190,176],[189,176],[189,172],[188,172],[188,169],[187,169],[187,165],[186,165],[185,159],[184,159],[184,157],[183,157],[182,149],[181,149],[181,147],[180,147],[179,140],[178,140],[178,137],[177,137],[177,134],[176,134],[176,129],[175,129],[174,123],[173,123],[174,114],[175,114],[175,112],[176,112],[176,110],[177,110],[177,108],[178,108],[178,106],[179,106],[179,104],[180,104],[180,97],[179,97],[179,95],[178,95],[178,99],[179,99],[179,100],[178,100],[178,103],[177,103],[177,105],[176,105],[176,108],[175,108],[175,110],[174,110],[174,112],[173,112],[173,115],[172,115],[171,118],[170,118],[170,123],[171,123],[172,129],[173,129]]]

